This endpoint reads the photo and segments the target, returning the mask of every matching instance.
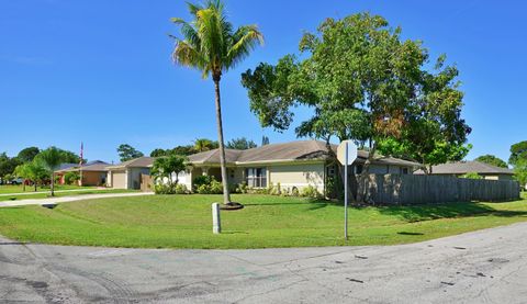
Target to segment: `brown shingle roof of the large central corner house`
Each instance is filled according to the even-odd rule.
[[[332,145],[333,150],[337,150],[336,145]],[[368,158],[368,151],[359,150],[359,162]],[[294,161],[309,159],[326,159],[327,148],[324,142],[319,140],[298,140],[282,144],[270,144],[247,150],[225,149],[225,160],[227,164],[249,164],[249,162],[269,162],[269,161]],[[218,164],[220,150],[214,149],[189,156],[189,161],[193,164]],[[416,162],[393,158],[378,157],[375,164],[418,166]]]

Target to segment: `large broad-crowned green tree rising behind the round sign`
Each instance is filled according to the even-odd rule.
[[[326,140],[334,161],[332,137],[367,146],[360,179],[378,150],[424,164],[441,162],[433,153],[444,159],[466,154],[459,146],[470,128],[460,119],[457,69],[445,67],[441,56],[437,71],[429,72],[427,49],[419,41],[403,41],[400,27],[368,13],[326,19],[318,33],[303,35],[300,50],[302,60],[287,55],[274,66],[262,63],[242,75],[250,110],[264,127],[282,132],[293,121],[293,109],[313,110],[296,135]],[[427,136],[414,138],[422,125],[429,125]],[[368,201],[362,184],[357,200]]]

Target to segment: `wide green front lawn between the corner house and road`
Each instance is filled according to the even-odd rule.
[[[234,195],[240,211],[222,212],[218,195],[152,195],[0,209],[0,234],[21,241],[141,248],[266,248],[393,245],[527,221],[527,200],[422,206],[351,207],[348,241],[340,204],[301,198]]]

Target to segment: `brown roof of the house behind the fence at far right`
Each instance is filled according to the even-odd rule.
[[[481,173],[481,174],[514,174],[513,170],[508,168],[500,168],[480,161],[458,161],[447,162],[431,167],[433,174],[466,174],[466,173]],[[422,170],[415,172],[416,174],[424,174]]]

